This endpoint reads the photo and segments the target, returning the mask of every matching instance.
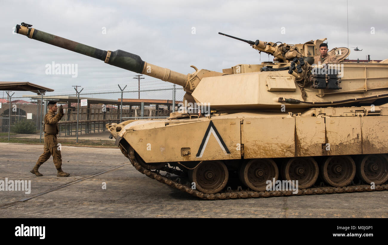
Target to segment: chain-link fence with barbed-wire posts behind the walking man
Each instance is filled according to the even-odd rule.
[[[119,86],[120,87],[120,86]],[[112,86],[113,89],[116,89]],[[109,89],[107,89],[109,90]],[[0,98],[0,140],[43,142],[43,120],[47,103],[56,101],[64,108],[59,121],[60,143],[114,145],[105,124],[133,119],[166,118],[177,111],[183,100],[182,87],[89,92],[77,88],[74,93],[22,95]],[[175,104],[175,106],[174,106]]]

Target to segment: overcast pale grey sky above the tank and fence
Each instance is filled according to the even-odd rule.
[[[329,49],[351,48],[350,59],[388,58],[386,1],[1,1],[0,81],[28,81],[66,93],[136,89],[134,72],[12,34],[21,22],[102,50],[125,50],[152,64],[184,74],[199,69],[222,72],[236,64],[260,64],[268,55],[247,43],[218,35],[289,44],[327,38]],[[102,33],[106,28],[106,34]],[[195,28],[195,34],[193,34]],[[281,30],[284,28],[285,33]],[[371,33],[374,29],[374,34]],[[272,57],[270,57],[272,60]],[[78,77],[46,75],[46,64],[78,64]],[[169,86],[145,76],[142,88]],[[26,94],[25,92],[17,94]],[[2,97],[2,95],[0,94]]]

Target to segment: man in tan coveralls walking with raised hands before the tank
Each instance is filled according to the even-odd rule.
[[[34,168],[30,172],[35,174],[36,176],[43,176],[43,174],[39,173],[38,169],[40,165],[42,165],[45,161],[47,161],[52,155],[55,167],[57,168],[57,171],[58,171],[57,177],[67,177],[70,174],[62,171],[62,156],[61,156],[61,151],[58,150],[58,141],[57,141],[57,134],[59,132],[58,121],[61,120],[61,118],[64,115],[63,107],[61,105],[58,109],[57,102],[55,101],[50,101],[47,104],[47,107],[49,107],[49,111],[47,112],[44,120],[45,122],[44,152],[42,155],[40,155]],[[55,112],[57,112],[57,110],[59,111],[55,115]]]

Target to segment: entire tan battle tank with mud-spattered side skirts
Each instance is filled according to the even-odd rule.
[[[185,75],[28,24],[16,32],[184,87],[183,109],[167,119],[106,125],[150,178],[204,199],[388,190],[387,60],[312,64],[326,38],[296,45],[236,38],[274,62],[222,72],[192,66]],[[341,61],[349,52],[329,54]]]

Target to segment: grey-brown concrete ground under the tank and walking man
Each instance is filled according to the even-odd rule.
[[[42,177],[31,174],[42,152],[42,145],[0,143],[0,180],[31,180],[29,194],[0,191],[0,217],[388,217],[388,191],[199,200],[139,173],[119,149],[62,145],[68,178],[56,176],[52,158],[40,167]]]

